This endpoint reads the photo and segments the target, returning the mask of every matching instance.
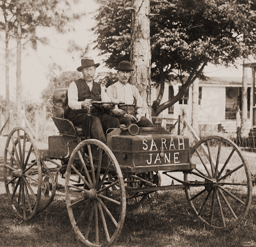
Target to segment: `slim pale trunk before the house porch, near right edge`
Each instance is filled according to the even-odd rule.
[[[243,64],[249,63],[247,59],[244,59]],[[242,116],[241,116],[241,136],[244,136],[246,130],[246,122],[247,122],[247,78],[248,78],[248,67],[243,66],[243,81],[242,81]]]

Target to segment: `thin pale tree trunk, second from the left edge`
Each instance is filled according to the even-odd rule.
[[[19,20],[19,15],[17,18],[17,116],[18,121],[21,123],[21,110],[22,110],[22,88],[21,88],[21,23]]]

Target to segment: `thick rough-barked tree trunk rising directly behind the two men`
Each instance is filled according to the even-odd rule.
[[[150,117],[150,0],[132,0],[132,8],[131,63],[134,71],[131,84],[139,89],[143,101],[147,102]]]

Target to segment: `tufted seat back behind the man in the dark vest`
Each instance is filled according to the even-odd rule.
[[[67,118],[70,108],[68,107],[68,88],[54,90],[52,94],[53,116],[55,118]]]

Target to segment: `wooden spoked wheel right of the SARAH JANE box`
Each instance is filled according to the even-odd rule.
[[[252,201],[252,175],[239,147],[208,136],[191,149],[190,161],[196,168],[184,174],[185,192],[196,216],[212,228],[235,227]]]

